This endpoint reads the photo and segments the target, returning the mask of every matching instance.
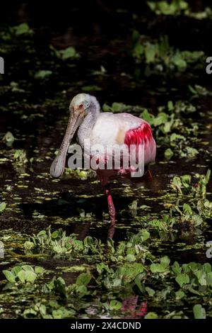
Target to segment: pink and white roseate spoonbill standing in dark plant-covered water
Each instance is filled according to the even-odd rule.
[[[151,180],[148,164],[155,160],[156,152],[152,130],[146,120],[135,117],[130,113],[101,113],[97,99],[89,94],[76,95],[71,101],[69,110],[70,117],[64,140],[61,143],[57,157],[52,163],[50,174],[54,177],[63,174],[66,153],[76,131],[78,143],[85,152],[87,151],[85,142],[89,140],[90,149],[87,151],[89,161],[91,162],[93,157],[95,158],[95,166],[98,165],[95,171],[107,196],[111,236],[114,232],[112,226],[115,223],[115,209],[110,193],[109,179],[111,176],[122,176],[132,181]],[[98,145],[98,153],[94,149],[94,147],[97,147],[96,145]],[[108,145],[112,147],[110,152],[107,150]],[[121,147],[123,149],[122,154],[116,154],[118,150],[120,152],[119,148]],[[143,147],[143,155],[139,155],[140,147]],[[105,154],[105,152],[107,153]],[[133,153],[135,159],[131,159]],[[139,157],[141,157],[140,160]],[[108,162],[112,162],[110,169],[107,167]],[[124,164],[124,162],[127,163]],[[92,165],[91,169],[93,169]],[[140,174],[138,174],[139,170],[141,171]],[[144,174],[142,171],[144,171]]]

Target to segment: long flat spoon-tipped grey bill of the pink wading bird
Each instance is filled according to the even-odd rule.
[[[55,157],[54,162],[50,168],[50,174],[52,177],[58,178],[61,176],[61,174],[63,174],[66,164],[66,154],[69,149],[71,139],[76,132],[80,122],[81,119],[79,117],[73,118],[73,116],[70,115],[66,134],[64,135],[64,140],[62,141],[59,152],[57,153],[57,156]]]

